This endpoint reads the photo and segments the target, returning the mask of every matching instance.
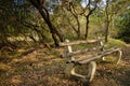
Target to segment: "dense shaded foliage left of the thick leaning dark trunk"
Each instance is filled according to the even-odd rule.
[[[21,4],[20,4],[21,3]],[[47,30],[47,26],[41,16],[28,6],[28,2],[11,0],[9,2],[0,2],[0,43],[9,45],[9,43],[18,44],[16,41],[50,41],[51,34]],[[46,38],[46,35],[48,35]],[[16,40],[16,38],[22,38]],[[28,39],[26,39],[28,38]],[[10,40],[11,39],[11,40]],[[32,40],[35,39],[35,40]],[[12,41],[13,40],[13,41]],[[14,44],[14,45],[15,45]]]

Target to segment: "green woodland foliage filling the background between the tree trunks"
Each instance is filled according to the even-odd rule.
[[[43,1],[43,0],[41,0]],[[84,37],[86,32],[86,17],[84,14],[88,14],[89,9],[82,9],[82,4],[80,4],[81,0],[74,0],[73,6],[75,16],[77,15],[80,24],[80,39]],[[95,1],[95,0],[93,0]],[[118,4],[119,2],[119,4]],[[24,1],[24,4],[20,4],[21,0],[17,2],[14,2],[14,0],[10,0],[9,2],[1,1],[0,2],[0,26],[2,29],[0,29],[0,42],[1,40],[6,40],[9,38],[29,38],[32,37],[36,39],[36,42],[44,43],[44,42],[52,42],[52,37],[50,33],[49,27],[46,25],[46,22],[42,19],[39,12],[34,9],[34,6],[29,6],[30,3],[28,1]],[[110,25],[115,24],[115,19],[118,18],[118,15],[123,13],[123,10],[127,8],[127,3],[129,3],[128,0],[122,0],[120,2],[119,0],[114,1],[112,0],[112,4],[109,6],[109,17],[112,14],[112,18],[114,18],[113,22],[109,22]],[[50,13],[50,19],[51,23],[56,27],[57,31],[65,38],[69,40],[77,40],[77,33],[78,33],[78,24],[74,15],[70,13],[69,4],[67,1],[62,1],[62,3],[58,3],[57,0],[46,0],[47,10]],[[99,8],[92,13],[90,16],[90,24],[89,24],[89,39],[90,38],[96,38],[96,35],[104,35],[105,32],[104,29],[104,6],[102,0],[98,3]],[[94,5],[92,2],[91,5]],[[123,8],[122,8],[123,5]],[[120,9],[122,8],[122,9]],[[84,12],[84,14],[83,14]],[[115,16],[113,14],[115,13]],[[127,19],[129,20],[129,19]],[[121,23],[121,22],[120,22]],[[120,27],[123,26],[126,22],[121,23]],[[25,26],[28,25],[28,26]],[[129,24],[128,24],[129,25]],[[34,29],[35,28],[35,29]],[[114,27],[115,29],[115,27]],[[112,33],[117,33],[117,30],[109,29],[109,34],[113,37]],[[76,31],[77,30],[77,31]],[[123,29],[125,30],[125,29]],[[129,29],[128,29],[129,30]],[[127,31],[128,31],[127,30]],[[113,31],[113,32],[112,32]],[[122,31],[122,29],[120,30]],[[122,31],[123,32],[123,31]],[[122,34],[119,32],[119,34]],[[123,35],[129,35],[129,33],[126,33]],[[121,35],[121,37],[123,37]],[[120,39],[129,39],[129,38],[120,38]],[[10,40],[9,40],[10,41]],[[31,39],[32,41],[32,39]],[[6,42],[8,43],[8,42]],[[5,42],[3,43],[5,44]]]

